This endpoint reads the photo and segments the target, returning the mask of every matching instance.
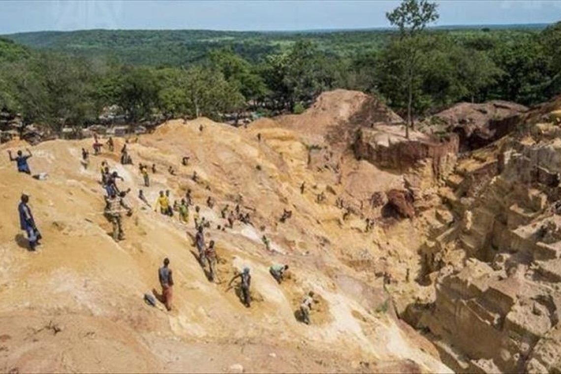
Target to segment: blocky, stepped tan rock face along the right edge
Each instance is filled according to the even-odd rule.
[[[456,371],[559,371],[560,148],[512,138],[463,159],[442,190],[461,220],[426,246],[443,259],[434,302],[408,313]]]

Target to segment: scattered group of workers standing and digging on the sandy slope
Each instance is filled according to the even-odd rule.
[[[107,145],[109,150],[114,149],[113,139],[109,138]],[[102,144],[98,141],[97,136],[95,136],[94,142],[94,154],[100,154],[100,148]],[[27,149],[27,155],[24,155],[22,151],[17,151],[17,156],[13,157],[11,151],[8,151],[8,155],[10,156],[11,161],[15,161],[17,165],[17,171],[21,173],[31,174],[31,170],[29,168],[29,164],[27,163],[27,159],[29,159],[33,154],[31,151]],[[84,168],[87,169],[89,164],[89,152],[82,148],[81,153],[82,164]],[[188,159],[183,159],[183,164],[186,165]],[[130,154],[128,154],[128,150],[126,144],[123,146],[121,150],[121,163],[128,164],[130,163]],[[144,181],[144,186],[149,187],[149,175],[148,175],[148,165],[140,164],[139,165],[140,174]],[[152,165],[152,171],[155,173],[155,164]],[[100,166],[100,173],[101,173],[101,182],[106,192],[105,199],[105,210],[104,213],[111,221],[113,231],[112,237],[114,241],[122,241],[125,239],[125,234],[123,232],[123,225],[122,225],[122,213],[123,211],[126,212],[128,216],[132,215],[132,208],[126,204],[124,197],[130,189],[127,191],[121,191],[117,187],[117,180],[124,179],[118,175],[116,171],[109,172],[109,165],[107,161],[102,161]],[[174,174],[174,173],[172,173]],[[146,205],[150,206],[144,192],[142,190],[139,191],[139,198],[143,201]],[[159,196],[155,202],[154,210],[158,211],[160,209],[160,213],[168,216],[173,216],[173,210],[178,212],[178,216],[180,220],[184,223],[187,223],[189,218],[189,211],[188,206],[192,205],[192,196],[191,190],[188,190],[186,193],[185,198],[181,199],[181,202],[175,202],[173,208],[170,202],[170,192],[167,191],[160,191]],[[31,213],[31,209],[29,206],[29,195],[26,193],[22,193],[21,195],[21,202],[18,206],[18,212],[20,217],[20,227],[22,230],[25,231],[27,235],[27,240],[29,242],[30,250],[35,251],[36,246],[40,245],[40,239],[42,236],[36,227],[35,220],[33,218],[33,214]],[[209,196],[206,204],[212,209],[214,206],[214,200]],[[251,224],[250,215],[249,213],[243,214],[240,211],[239,204],[233,210],[229,210],[229,205],[226,205],[222,210],[222,218],[228,221],[228,226],[230,228],[233,227],[234,220],[237,218],[238,220],[242,221],[245,224]],[[236,215],[234,215],[234,211],[236,211]],[[292,213],[292,212],[291,212]],[[195,207],[195,214],[194,214],[194,223],[196,229],[195,235],[195,246],[198,251],[198,260],[200,266],[205,269],[208,266],[208,279],[209,281],[214,281],[217,278],[217,263],[218,263],[218,256],[217,251],[215,248],[215,242],[211,240],[208,243],[208,246],[205,244],[204,238],[204,229],[205,227],[209,227],[210,223],[205,221],[205,218],[200,218],[200,207]],[[267,246],[268,247],[268,246]],[[273,278],[280,284],[282,283],[285,273],[288,270],[288,265],[272,265],[269,267],[269,273],[273,276]],[[161,301],[164,303],[165,308],[169,311],[172,310],[172,298],[173,298],[173,276],[172,270],[169,267],[169,258],[165,258],[163,261],[163,266],[158,269],[158,278],[160,285],[162,286],[162,299]],[[240,297],[245,304],[246,307],[251,306],[251,274],[249,267],[244,267],[240,274],[233,276],[233,278],[229,281],[228,286],[231,286],[234,280],[240,279],[238,287],[240,289]],[[301,303],[300,311],[302,315],[302,321],[306,324],[310,323],[310,309],[311,304],[313,302],[312,299],[313,293],[310,292],[306,295],[304,300]]]

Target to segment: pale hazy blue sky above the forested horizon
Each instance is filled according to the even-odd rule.
[[[561,20],[561,0],[449,0],[438,25]],[[0,34],[78,29],[304,30],[387,26],[398,1],[0,1]]]

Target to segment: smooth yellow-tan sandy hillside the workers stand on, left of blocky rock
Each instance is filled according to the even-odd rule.
[[[343,104],[352,99],[344,94]],[[344,116],[361,112],[357,107]],[[80,149],[91,149],[91,140],[44,142],[31,149],[30,167],[48,173],[45,181],[16,173],[2,157],[0,370],[222,372],[240,370],[232,366],[240,364],[246,372],[448,371],[432,345],[397,320],[383,289],[384,271],[404,279],[401,264],[417,256],[420,238],[411,221],[366,233],[369,210],[343,221],[335,205],[337,198],[359,204],[373,191],[399,188],[402,176],[356,161],[346,150],[335,160],[337,172],[323,167],[319,160],[325,155],[310,153],[310,113],[302,115],[304,135],[284,125],[287,119],[262,120],[247,129],[208,119],[171,121],[151,135],[131,138],[135,165],[126,166],[105,149],[91,156],[84,170]],[[322,133],[317,139],[329,153],[329,138]],[[122,143],[117,139],[116,150]],[[191,158],[187,167],[181,165],[185,155]],[[126,200],[134,214],[124,219],[126,240],[119,243],[109,236],[111,224],[103,216],[98,172],[103,160],[125,178],[119,186],[132,189]],[[141,187],[139,161],[157,165],[150,188]],[[326,158],[325,165],[335,161]],[[166,172],[169,165],[176,176]],[[136,197],[139,188],[151,203],[160,190],[171,190],[176,199],[191,188],[211,221],[206,241],[217,242],[219,283],[210,283],[196,261],[192,221],[183,225],[177,216],[145,209]],[[44,236],[36,253],[26,250],[19,230],[22,191],[31,195]],[[318,203],[321,192],[325,201]],[[213,209],[205,204],[208,196],[217,203]],[[218,229],[226,222],[220,218],[226,204],[240,204],[254,225],[236,221],[233,229]],[[293,214],[280,223],[283,209]],[[272,251],[261,242],[263,235],[272,240]],[[164,257],[171,260],[176,282],[171,313],[142,301],[144,293],[159,291],[157,269]],[[282,285],[268,273],[274,263],[291,267]],[[243,266],[252,273],[249,309],[227,287]],[[319,303],[306,326],[295,311],[309,290]]]

